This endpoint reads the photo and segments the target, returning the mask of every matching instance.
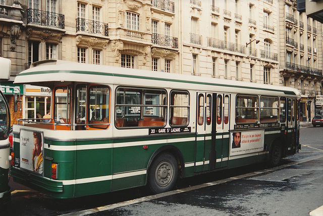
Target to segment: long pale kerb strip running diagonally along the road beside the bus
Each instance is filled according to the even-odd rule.
[[[96,207],[96,208],[91,208],[91,209],[86,209],[86,210],[81,210],[81,211],[77,211],[77,212],[71,212],[71,213],[67,213],[67,214],[61,214],[61,216],[82,216],[82,215],[89,215],[92,213],[96,213],[99,211],[106,211],[106,210],[110,210],[113,208],[119,208],[119,207],[124,207],[127,205],[132,205],[132,204],[137,204],[140,202],[145,202],[145,201],[150,201],[153,199],[158,199],[161,197],[165,197],[165,196],[170,196],[170,195],[174,195],[174,194],[178,194],[178,193],[183,193],[183,192],[188,192],[191,190],[197,190],[200,188],[204,188],[204,187],[209,187],[209,186],[213,186],[213,185],[217,185],[217,184],[222,184],[222,183],[226,183],[226,182],[231,182],[237,179],[243,179],[243,178],[247,178],[247,177],[252,177],[255,175],[259,175],[259,172],[261,173],[267,173],[267,172],[272,172],[272,171],[278,171],[278,170],[282,170],[286,167],[290,167],[290,166],[294,166],[297,164],[301,164],[301,163],[305,163],[311,160],[316,160],[319,158],[323,158],[323,155],[319,155],[319,156],[314,156],[314,157],[310,157],[310,158],[305,158],[302,159],[300,161],[294,161],[291,162],[287,165],[281,165],[279,167],[274,167],[271,169],[265,169],[262,171],[256,171],[256,172],[252,172],[252,173],[247,173],[247,174],[242,174],[242,175],[238,175],[238,176],[234,176],[234,177],[229,177],[226,179],[222,179],[222,180],[217,180],[217,181],[213,181],[213,182],[208,182],[208,183],[204,183],[204,184],[200,184],[200,185],[195,185],[192,187],[187,187],[187,188],[182,188],[182,189],[178,189],[178,190],[173,190],[173,191],[168,191],[165,193],[159,193],[159,194],[155,194],[155,195],[150,195],[150,196],[145,196],[145,197],[140,197],[140,198],[136,198],[136,199],[132,199],[132,200],[127,200],[127,201],[123,201],[123,202],[119,202],[119,203],[115,203],[115,204],[110,204],[110,205],[104,205],[104,206],[100,206],[100,207]]]

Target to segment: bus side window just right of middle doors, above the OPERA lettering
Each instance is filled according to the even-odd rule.
[[[237,95],[236,98],[236,123],[257,123],[258,97],[251,95]]]

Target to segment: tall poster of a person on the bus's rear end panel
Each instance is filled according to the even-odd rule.
[[[20,130],[20,167],[42,174],[43,134]]]

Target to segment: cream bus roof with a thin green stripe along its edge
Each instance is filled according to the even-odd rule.
[[[297,89],[232,81],[209,77],[163,73],[157,71],[130,69],[125,67],[84,64],[63,60],[34,62],[22,71],[15,83],[52,87],[63,82],[84,82],[97,84],[137,85],[146,87],[194,89],[232,93],[259,93],[290,95],[300,97]],[[228,90],[230,88],[230,90]],[[260,92],[259,92],[260,91]]]

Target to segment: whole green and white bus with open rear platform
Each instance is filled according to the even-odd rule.
[[[300,149],[292,88],[60,60],[33,63],[15,83],[52,95],[46,118],[14,125],[11,175],[53,197],[160,193]]]

